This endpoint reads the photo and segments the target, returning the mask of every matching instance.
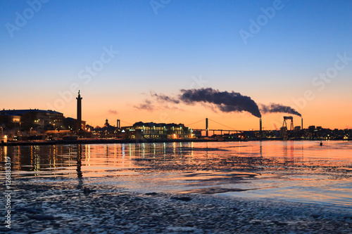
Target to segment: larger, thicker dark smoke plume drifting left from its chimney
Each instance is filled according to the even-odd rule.
[[[246,111],[256,117],[261,117],[258,105],[249,96],[241,93],[223,91],[217,89],[182,89],[179,96],[184,103],[196,102],[215,104],[222,112]]]

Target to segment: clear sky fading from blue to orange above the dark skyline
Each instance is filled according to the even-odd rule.
[[[38,2],[0,1],[1,109],[52,108],[76,117],[77,92],[70,86],[77,84],[82,118],[93,126],[106,118],[124,126],[208,117],[233,129],[258,129],[258,118],[248,112],[222,113],[200,104],[135,108],[154,101],[151,91],[172,96],[211,87],[258,104],[289,105],[301,112],[305,127],[352,128],[352,1],[282,0],[246,44],[240,30],[250,32],[250,20],[277,1],[153,1],[163,6],[158,9],[149,0]],[[27,22],[18,19],[23,16]],[[85,67],[99,64],[109,48],[118,53],[87,82]],[[320,73],[332,71],[337,55],[351,59],[339,62],[344,68],[331,82],[313,85]],[[199,77],[206,83],[196,84]],[[307,90],[314,97],[297,105],[294,100]],[[282,115],[263,115],[263,126],[279,127]],[[221,127],[210,122],[210,129]]]

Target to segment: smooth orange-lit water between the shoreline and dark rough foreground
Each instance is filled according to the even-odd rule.
[[[0,147],[1,177],[111,183],[141,192],[268,197],[352,207],[352,142],[253,141]],[[87,182],[85,182],[87,183]]]

